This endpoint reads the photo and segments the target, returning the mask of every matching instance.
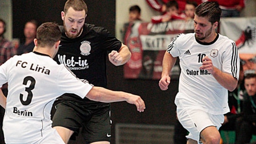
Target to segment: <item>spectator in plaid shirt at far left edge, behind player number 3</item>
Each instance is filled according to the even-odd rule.
[[[0,65],[5,63],[10,57],[16,54],[16,50],[11,42],[4,38],[4,33],[6,32],[6,23],[3,19],[0,18]],[[3,94],[7,96],[8,85],[4,84],[1,87]],[[0,144],[4,143],[4,135],[2,131],[3,124],[3,116],[5,113],[5,109],[0,107]]]

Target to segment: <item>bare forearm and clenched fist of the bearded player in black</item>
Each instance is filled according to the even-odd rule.
[[[129,48],[122,43],[121,48],[119,51],[112,51],[109,54],[109,60],[111,63],[113,63],[115,66],[123,65],[125,64],[131,57],[131,52]]]

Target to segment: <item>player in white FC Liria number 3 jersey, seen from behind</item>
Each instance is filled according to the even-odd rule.
[[[101,102],[127,101],[140,112],[145,109],[139,96],[94,87],[77,79],[64,64],[57,64],[52,58],[60,37],[57,24],[44,23],[37,29],[34,52],[16,55],[0,66],[0,85],[9,84],[7,99],[0,91],[0,105],[6,108],[3,131],[7,144],[64,144],[50,119],[53,102],[64,93]]]

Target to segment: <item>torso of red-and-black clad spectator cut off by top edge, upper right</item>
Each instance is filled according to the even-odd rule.
[[[245,0],[209,0],[219,3],[221,17],[240,17],[241,10],[245,7]]]

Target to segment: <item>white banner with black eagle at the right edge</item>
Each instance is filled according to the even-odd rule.
[[[256,17],[222,18],[219,33],[236,42],[245,73],[256,72]]]

